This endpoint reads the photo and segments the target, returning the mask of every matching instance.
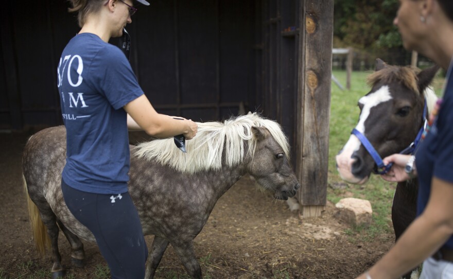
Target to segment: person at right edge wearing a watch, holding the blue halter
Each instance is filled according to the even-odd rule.
[[[382,175],[405,181],[417,175],[417,218],[395,246],[359,278],[399,278],[422,263],[421,278],[453,278],[453,1],[400,0],[394,24],[406,49],[416,50],[448,70],[441,101],[431,115],[431,127],[415,153],[394,154]]]

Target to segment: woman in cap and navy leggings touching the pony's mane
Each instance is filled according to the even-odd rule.
[[[145,0],[137,2],[149,5]],[[57,83],[66,127],[64,200],[95,236],[112,278],[144,278],[148,250],[128,194],[129,129],[154,137],[197,132],[191,120],[157,113],[125,54],[109,44],[137,10],[132,0],[71,0],[80,32],[63,50]]]

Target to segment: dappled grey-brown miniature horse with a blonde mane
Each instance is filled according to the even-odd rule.
[[[186,143],[187,153],[181,152],[172,138],[130,147],[129,193],[140,215],[143,233],[155,236],[145,278],[154,277],[169,243],[187,273],[194,278],[202,277],[193,239],[217,200],[246,173],[272,191],[278,200],[293,197],[300,187],[288,163],[287,138],[275,121],[248,114],[224,123],[198,125],[197,136]],[[58,251],[59,229],[71,243],[71,256],[76,265],[81,265],[84,258],[79,237],[95,241],[64,203],[60,183],[65,155],[63,126],[33,135],[23,153],[34,239],[38,249],[44,251],[48,243],[45,224],[50,236],[54,277],[64,275]]]

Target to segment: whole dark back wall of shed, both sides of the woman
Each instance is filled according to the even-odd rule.
[[[56,68],[79,29],[67,7],[4,3],[0,129],[62,123]],[[255,110],[255,1],[153,0],[138,9],[127,26],[131,65],[156,110],[202,121],[237,115],[240,104]]]

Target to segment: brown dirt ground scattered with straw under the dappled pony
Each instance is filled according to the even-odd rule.
[[[22,188],[21,152],[30,133],[0,133],[1,279],[36,278],[31,274],[51,268],[49,256],[40,258],[34,248]],[[360,242],[345,233],[349,226],[335,212],[328,203],[321,217],[300,218],[242,178],[220,198],[195,239],[204,278],[354,278],[392,246],[394,236]],[[148,247],[152,238],[146,237]],[[97,247],[85,242],[86,265],[76,269],[62,234],[59,243],[71,278],[95,278],[105,265]],[[170,246],[156,278],[171,273],[184,271]]]

